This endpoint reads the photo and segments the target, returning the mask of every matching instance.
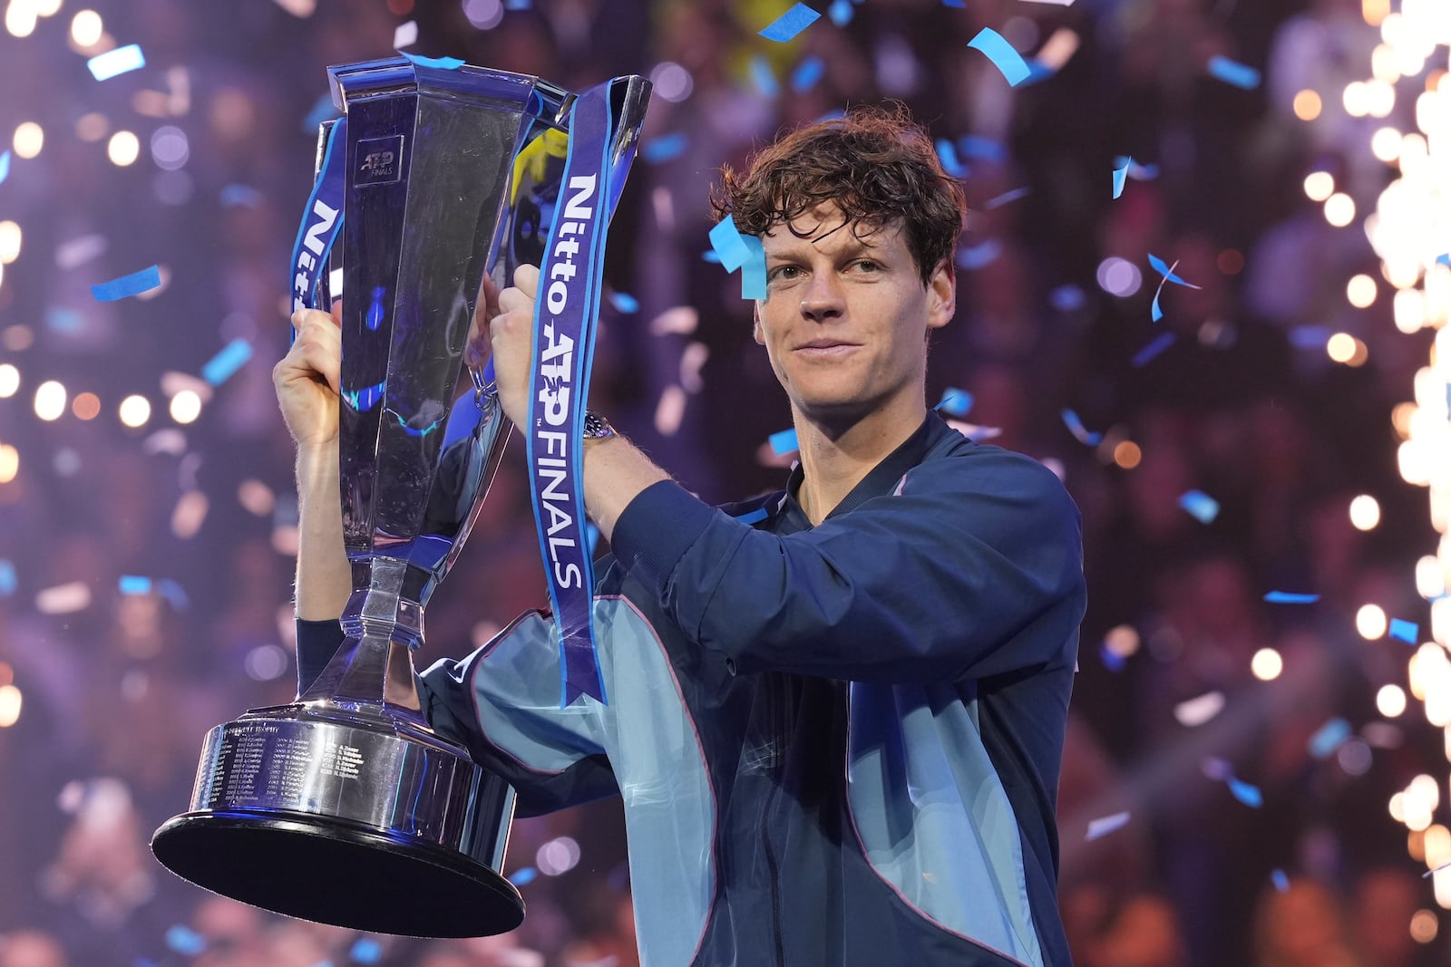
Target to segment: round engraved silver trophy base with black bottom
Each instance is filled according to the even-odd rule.
[[[524,919],[503,876],[514,790],[377,706],[255,709],[212,729],[189,812],[151,839],[184,880],[276,913],[405,937]]]

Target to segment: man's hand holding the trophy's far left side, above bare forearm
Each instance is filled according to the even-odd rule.
[[[292,316],[297,338],[277,365],[273,386],[287,432],[299,449],[337,444],[342,367],[342,303],[332,313],[299,309]]]

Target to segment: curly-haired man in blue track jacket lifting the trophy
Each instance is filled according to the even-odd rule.
[[[755,335],[801,451],[785,491],[712,509],[618,433],[586,441],[586,505],[614,549],[595,603],[609,705],[559,707],[551,622],[530,613],[422,676],[429,721],[524,815],[621,794],[644,964],[1064,967],[1078,515],[1040,464],[924,404],[961,188],[904,116],[856,112],[727,170],[715,207],[766,252]],[[537,281],[521,268],[470,344],[515,422]],[[337,328],[296,325],[276,380],[309,661],[341,641],[350,584]]]

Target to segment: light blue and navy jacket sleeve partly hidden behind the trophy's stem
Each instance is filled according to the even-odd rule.
[[[303,655],[312,655],[309,664],[318,654],[331,657],[341,642],[338,622],[297,622],[299,664]],[[434,663],[419,676],[418,694],[441,736],[514,786],[519,815],[618,792],[604,748],[607,710],[591,699],[559,707],[559,648],[538,612],[467,658]]]

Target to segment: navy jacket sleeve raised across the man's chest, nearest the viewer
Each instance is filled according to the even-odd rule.
[[[785,535],[659,483],[625,509],[614,551],[739,671],[920,683],[1071,664],[1084,607],[1078,510],[1007,451],[927,461]]]

